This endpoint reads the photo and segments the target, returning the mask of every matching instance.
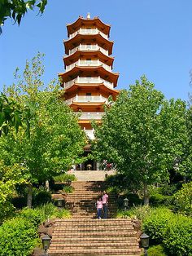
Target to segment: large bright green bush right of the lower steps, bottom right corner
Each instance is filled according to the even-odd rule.
[[[173,214],[166,208],[156,208],[143,219],[142,228],[151,237],[152,244],[164,245],[168,255],[192,254],[192,218]]]

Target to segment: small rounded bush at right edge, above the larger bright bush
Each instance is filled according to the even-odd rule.
[[[179,212],[192,216],[192,182],[183,184],[173,198]]]

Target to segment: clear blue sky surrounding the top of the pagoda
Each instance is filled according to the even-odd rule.
[[[16,67],[24,68],[37,51],[45,53],[45,82],[63,69],[66,24],[79,15],[99,16],[111,24],[116,89],[128,89],[146,74],[167,99],[188,99],[192,69],[191,0],[48,0],[46,11],[29,11],[20,27],[7,20],[0,36],[0,89],[14,82]]]

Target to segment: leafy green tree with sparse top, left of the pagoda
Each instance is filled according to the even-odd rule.
[[[77,123],[71,108],[60,99],[58,86],[45,87],[41,82],[44,68],[41,55],[33,58],[24,69],[24,81],[7,90],[21,108],[28,108],[28,124],[16,133],[10,130],[0,140],[1,158],[7,166],[23,166],[28,183],[28,206],[32,205],[33,183],[46,181],[68,170],[80,161],[85,145],[85,133]],[[44,90],[42,90],[44,89]],[[28,128],[29,126],[29,128]],[[29,130],[29,136],[25,130]]]

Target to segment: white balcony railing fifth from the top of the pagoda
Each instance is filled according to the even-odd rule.
[[[81,103],[89,103],[89,102],[108,102],[108,99],[103,97],[102,95],[95,95],[95,96],[88,96],[88,95],[76,95],[76,97],[73,97],[71,99],[67,99],[66,103],[67,104],[72,104],[75,102],[81,102]]]

